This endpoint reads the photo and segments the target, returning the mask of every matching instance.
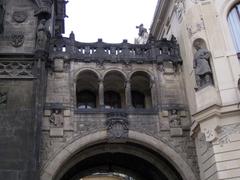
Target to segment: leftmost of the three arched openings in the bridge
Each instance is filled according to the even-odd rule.
[[[98,102],[98,76],[89,70],[80,72],[76,81],[76,105],[79,109],[96,108]]]

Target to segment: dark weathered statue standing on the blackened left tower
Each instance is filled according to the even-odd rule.
[[[46,19],[41,19],[37,27],[36,49],[38,50],[46,50],[48,48],[51,35],[46,23]]]

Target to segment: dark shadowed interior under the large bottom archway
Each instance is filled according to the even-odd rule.
[[[141,150],[134,154],[139,148]],[[55,180],[79,180],[94,173],[111,172],[126,174],[135,180],[182,180],[166,159],[146,150],[135,144],[97,145],[73,156],[70,161],[76,163],[61,171]],[[79,158],[81,155],[85,157]]]

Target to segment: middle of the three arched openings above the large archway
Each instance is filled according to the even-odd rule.
[[[107,109],[125,106],[125,78],[118,71],[110,71],[104,77],[104,106]]]

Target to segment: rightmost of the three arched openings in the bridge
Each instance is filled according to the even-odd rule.
[[[131,76],[131,98],[134,108],[152,108],[150,76],[146,72],[135,72]]]

